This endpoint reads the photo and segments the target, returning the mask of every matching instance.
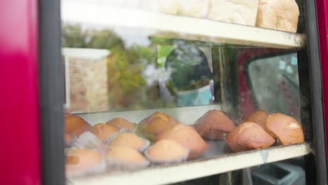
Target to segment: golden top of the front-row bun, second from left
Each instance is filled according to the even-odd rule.
[[[146,163],[147,160],[135,149],[127,146],[116,146],[107,152],[107,158],[115,158],[126,163]]]

